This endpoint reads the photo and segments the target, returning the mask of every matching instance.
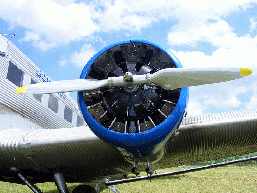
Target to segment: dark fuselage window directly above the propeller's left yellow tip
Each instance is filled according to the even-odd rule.
[[[21,87],[23,84],[24,72],[20,70],[15,64],[11,61],[9,62],[9,68],[7,73],[7,79],[13,84]]]

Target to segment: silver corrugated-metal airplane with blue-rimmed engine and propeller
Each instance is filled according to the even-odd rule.
[[[189,86],[251,73],[183,68],[163,46],[131,39],[97,52],[80,79],[52,81],[1,35],[0,181],[99,192],[109,177],[257,152],[257,109],[187,116]]]

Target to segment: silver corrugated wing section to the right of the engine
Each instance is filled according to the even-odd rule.
[[[191,116],[167,144],[158,168],[257,152],[257,110]],[[155,167],[155,166],[154,166]]]

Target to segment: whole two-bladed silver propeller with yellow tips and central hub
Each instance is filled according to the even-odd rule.
[[[31,84],[15,90],[22,94],[48,94],[102,87],[127,86],[138,84],[156,84],[164,89],[175,89],[203,84],[213,84],[235,80],[252,74],[249,68],[166,68],[153,74],[133,75],[125,72],[124,76],[108,77],[108,79],[77,79]]]

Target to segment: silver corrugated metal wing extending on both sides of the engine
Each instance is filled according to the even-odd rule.
[[[257,152],[257,110],[185,118],[165,156],[154,170]],[[1,180],[19,183],[9,169],[31,181],[52,181],[59,168],[67,182],[82,182],[130,173],[131,163],[88,127],[6,131],[0,135]],[[145,166],[139,165],[144,170]]]

